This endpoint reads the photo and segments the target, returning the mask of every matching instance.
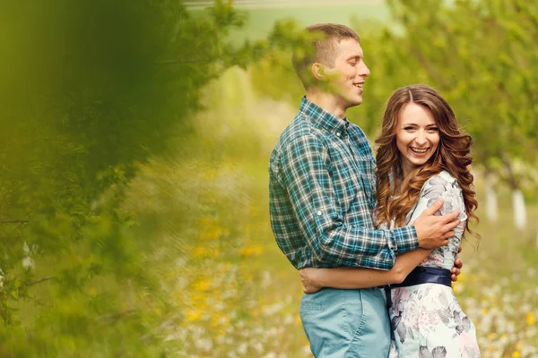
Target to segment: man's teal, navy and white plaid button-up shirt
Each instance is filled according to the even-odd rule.
[[[295,268],[390,269],[414,226],[377,230],[375,160],[355,124],[302,98],[269,163],[271,226]]]

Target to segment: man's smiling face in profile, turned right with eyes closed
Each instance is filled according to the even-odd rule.
[[[338,43],[336,50],[334,67],[325,68],[327,84],[344,109],[358,106],[362,103],[362,84],[369,76],[362,48],[356,40],[346,38]]]

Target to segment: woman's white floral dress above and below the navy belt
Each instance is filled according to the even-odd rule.
[[[445,200],[440,214],[459,209],[461,223],[450,243],[432,251],[420,266],[450,269],[454,266],[467,219],[462,190],[452,175],[443,171],[424,183],[421,197],[407,215],[405,225],[439,198]],[[390,358],[480,357],[473,322],[460,308],[451,287],[421,284],[393,288],[391,292],[393,305],[389,314],[395,341]]]

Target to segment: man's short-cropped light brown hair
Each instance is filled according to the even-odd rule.
[[[303,86],[308,89],[312,81],[309,71],[312,64],[334,66],[340,41],[351,38],[360,42],[360,37],[355,30],[338,23],[317,23],[308,26],[305,32],[307,41],[303,46],[295,48],[292,63]]]

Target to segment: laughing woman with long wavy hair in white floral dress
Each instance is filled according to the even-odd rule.
[[[388,297],[395,334],[391,356],[478,357],[473,323],[456,301],[449,271],[464,232],[473,234],[467,219],[478,219],[469,170],[471,137],[459,129],[452,108],[436,90],[412,85],[389,98],[376,143],[377,225],[411,225],[422,210],[442,198],[441,214],[460,210],[456,234],[447,246],[398,256],[390,271],[305,268],[304,291],[396,284]]]

